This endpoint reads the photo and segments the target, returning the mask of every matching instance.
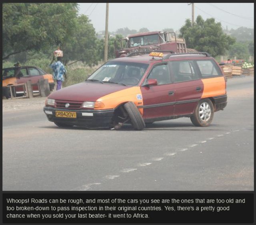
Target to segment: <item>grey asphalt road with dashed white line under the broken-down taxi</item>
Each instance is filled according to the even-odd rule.
[[[62,129],[43,100],[3,110],[3,190],[254,190],[254,77],[229,79],[227,91],[209,127],[179,118],[143,131]]]

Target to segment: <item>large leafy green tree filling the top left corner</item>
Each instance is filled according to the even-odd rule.
[[[3,3],[2,59],[62,45],[75,29],[77,3]]]

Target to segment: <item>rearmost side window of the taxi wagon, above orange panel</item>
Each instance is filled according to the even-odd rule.
[[[222,76],[221,71],[212,60],[196,60],[202,78]]]

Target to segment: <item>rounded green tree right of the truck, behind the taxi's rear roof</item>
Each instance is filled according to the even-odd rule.
[[[235,39],[224,34],[221,23],[216,23],[214,18],[203,20],[202,16],[196,18],[191,24],[189,19],[180,28],[180,37],[185,38],[187,48],[194,48],[200,52],[208,52],[213,57],[225,54]]]

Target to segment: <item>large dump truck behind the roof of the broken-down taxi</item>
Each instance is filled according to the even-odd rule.
[[[177,38],[175,32],[154,31],[128,35],[115,41],[116,58],[127,56],[132,52],[172,51],[187,53],[184,38]],[[194,51],[193,51],[194,52]]]

